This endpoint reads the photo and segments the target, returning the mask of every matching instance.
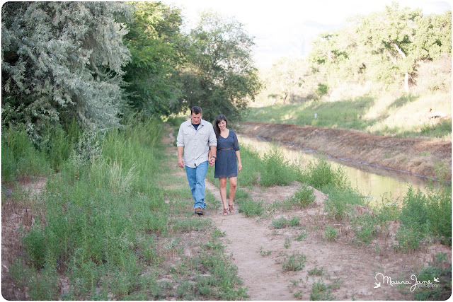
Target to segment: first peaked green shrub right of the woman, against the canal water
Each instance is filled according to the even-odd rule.
[[[264,187],[289,185],[295,180],[292,166],[275,144],[264,154],[262,167],[260,184]]]

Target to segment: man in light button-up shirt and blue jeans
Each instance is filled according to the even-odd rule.
[[[191,108],[190,120],[180,125],[176,146],[178,146],[178,165],[180,168],[185,168],[192,197],[195,200],[193,202],[195,214],[204,215],[206,211],[205,177],[208,165],[207,156],[211,149],[213,156],[209,164],[214,165],[217,158],[217,138],[212,124],[202,120],[200,107],[194,106]]]

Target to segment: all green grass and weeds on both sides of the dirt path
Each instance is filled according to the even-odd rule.
[[[178,122],[173,121],[174,129]],[[9,182],[2,179],[2,200],[32,209],[35,214],[34,223],[22,231],[23,251],[10,267],[16,283],[27,289],[30,299],[247,298],[237,267],[225,255],[224,233],[209,217],[193,215],[187,180],[172,170],[176,155],[167,153],[161,144],[161,129],[164,127],[157,120],[137,119],[124,130],[105,136],[80,134],[74,143],[68,134],[71,152],[62,156],[59,173],[50,170],[50,153],[28,146],[22,148],[26,152],[21,158],[15,153],[5,154],[11,161],[6,166],[16,168],[10,169]],[[2,137],[2,149],[16,150],[15,141],[19,139],[13,137],[22,137],[21,133]],[[55,144],[55,148],[58,146]],[[57,149],[52,153],[66,154]],[[30,170],[27,167],[35,156],[41,158],[42,168]],[[309,207],[314,202],[314,187],[328,194],[324,202],[324,215],[330,221],[324,228],[326,240],[340,236],[335,225],[341,222],[348,223],[355,233],[351,244],[369,246],[377,236],[386,236],[389,224],[397,221],[394,250],[411,252],[435,241],[451,245],[452,198],[447,185],[431,188],[428,194],[409,190],[401,209],[388,205],[393,201],[386,199],[382,200],[383,207],[359,214],[356,207],[366,207],[362,194],[350,185],[343,170],[322,159],[296,168],[276,147],[260,158],[251,146],[241,146],[241,158],[243,171],[236,202],[245,216],[259,219],[277,211],[290,213]],[[16,188],[8,194],[10,179],[24,175],[47,175],[45,192],[31,199]],[[212,168],[207,178],[213,180]],[[299,189],[282,202],[254,200],[248,194],[254,187],[265,190],[294,182],[299,183]],[[219,207],[219,201],[209,192],[206,201],[211,209]],[[297,216],[272,222],[273,228],[297,227],[298,223]],[[439,269],[443,269],[442,279],[451,274],[441,258],[439,255],[439,262],[425,269],[426,278]],[[304,255],[288,255],[282,267],[302,269],[304,261]],[[440,290],[442,293],[443,288]],[[319,296],[316,293],[314,297]],[[428,297],[439,294],[423,293]]]

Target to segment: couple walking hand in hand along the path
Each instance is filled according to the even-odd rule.
[[[202,120],[202,109],[190,109],[190,120],[179,127],[176,146],[178,146],[178,165],[185,168],[189,182],[195,214],[206,211],[205,177],[208,165],[214,168],[214,178],[219,178],[223,215],[234,213],[234,195],[237,186],[237,170],[242,169],[239,143],[236,133],[226,128],[228,121],[224,115],[217,116],[214,127]],[[229,178],[229,203],[226,202],[226,178]]]

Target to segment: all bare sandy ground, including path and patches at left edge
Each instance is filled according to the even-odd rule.
[[[173,134],[168,131],[164,143],[169,152],[176,154],[176,147],[171,144],[173,139]],[[185,174],[176,162],[174,167],[175,175]],[[221,200],[219,190],[214,185],[216,181],[207,180],[207,190]],[[21,185],[35,194],[45,185],[45,179],[30,178]],[[241,185],[240,182],[238,185]],[[299,184],[294,182],[285,187],[254,187],[248,189],[248,193],[253,200],[270,204],[292,196],[298,187]],[[316,201],[311,207],[269,212],[261,218],[244,216],[237,205],[235,214],[222,216],[222,209],[213,209],[208,204],[207,214],[202,218],[212,219],[215,226],[225,233],[222,240],[226,252],[238,267],[243,286],[248,288],[248,300],[309,300],[314,284],[327,286],[331,298],[336,300],[413,300],[413,293],[407,284],[382,284],[375,289],[376,274],[380,272],[394,280],[411,280],[411,274],[433,261],[438,252],[447,253],[451,263],[451,248],[438,243],[415,252],[396,252],[392,248],[398,228],[396,222],[390,223],[388,230],[379,233],[371,244],[353,244],[354,233],[349,224],[328,219],[323,212],[326,195],[317,190],[314,193]],[[356,211],[360,213],[367,209],[356,207]],[[299,227],[274,228],[273,219],[281,216],[288,220],[299,217]],[[22,224],[27,229],[31,223],[33,214],[30,209],[20,204],[2,203],[1,287],[2,296],[8,300],[28,298],[13,283],[8,267],[21,251],[19,226]],[[338,236],[333,241],[326,240],[324,236],[328,225],[338,230]],[[283,269],[282,264],[291,255],[304,255],[303,269]]]

